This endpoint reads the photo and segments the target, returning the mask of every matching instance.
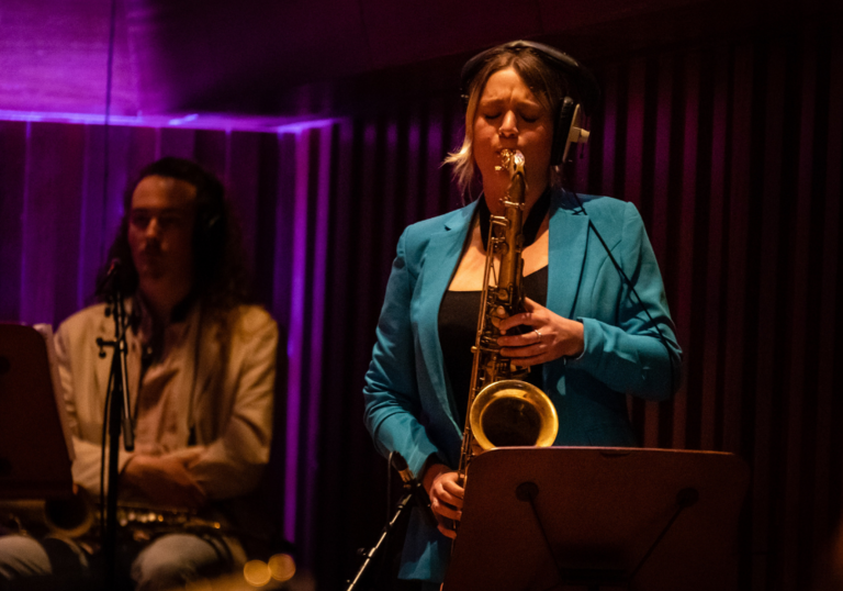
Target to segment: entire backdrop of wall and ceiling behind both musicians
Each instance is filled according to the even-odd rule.
[[[114,5],[108,129],[111,2],[0,5],[0,320],[89,301],[144,164],[220,174],[286,335],[268,516],[318,589],[385,517],[360,392],[397,236],[460,204],[459,69],[519,37],[595,70],[571,185],[636,203],[661,265],[683,387],[630,401],[642,444],[743,457],[741,589],[813,587],[843,498],[836,2]]]

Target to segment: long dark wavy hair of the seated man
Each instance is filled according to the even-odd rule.
[[[172,178],[196,188],[193,224],[193,296],[204,305],[228,310],[252,301],[250,274],[246,266],[243,233],[223,183],[192,160],[167,156],[146,166],[123,192],[123,220],[109,248],[109,263],[100,270],[98,285],[108,272],[110,261],[119,259],[116,272],[124,293],[137,291],[138,276],[128,246],[128,218],[132,194],[138,183],[150,176]],[[98,294],[99,297],[99,294]]]

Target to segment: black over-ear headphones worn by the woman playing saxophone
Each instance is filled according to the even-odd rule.
[[[575,96],[580,99],[580,103],[571,97],[562,97],[560,101],[559,113],[553,125],[553,148],[550,157],[552,166],[560,165],[567,159],[571,144],[588,142],[588,131],[582,127],[583,111],[591,114],[600,100],[597,79],[576,59],[550,45],[533,41],[512,41],[481,52],[465,63],[460,75],[460,88],[464,100],[468,101],[471,83],[483,66],[506,51],[530,51],[538,55],[548,66],[564,77],[569,87],[575,90]]]

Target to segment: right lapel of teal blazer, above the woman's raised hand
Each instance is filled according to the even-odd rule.
[[[588,216],[564,192],[553,194],[548,246],[548,308],[570,319],[585,265]]]

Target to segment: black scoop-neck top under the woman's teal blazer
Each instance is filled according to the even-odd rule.
[[[524,292],[529,299],[544,305],[548,300],[548,267],[524,278]],[[458,425],[465,424],[465,410],[471,388],[471,347],[477,335],[480,291],[446,291],[439,306],[439,345],[445,357],[445,370],[451,382],[457,403]],[[531,328],[529,328],[531,330]],[[525,381],[541,388],[541,366],[532,366]]]

